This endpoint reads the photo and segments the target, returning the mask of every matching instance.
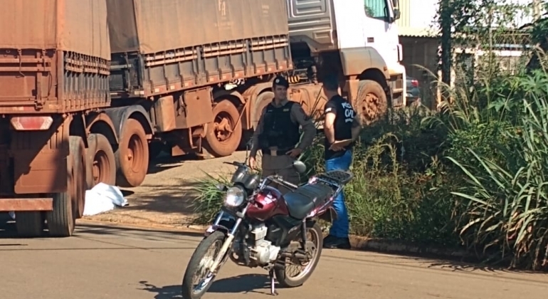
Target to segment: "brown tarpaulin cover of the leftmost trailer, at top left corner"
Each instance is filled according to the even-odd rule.
[[[2,1],[0,28],[0,48],[55,48],[110,61],[106,0]]]

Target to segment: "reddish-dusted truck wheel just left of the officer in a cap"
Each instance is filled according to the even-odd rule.
[[[207,127],[206,147],[214,157],[225,157],[238,149],[242,139],[242,122],[236,106],[222,100],[213,108],[214,122]]]

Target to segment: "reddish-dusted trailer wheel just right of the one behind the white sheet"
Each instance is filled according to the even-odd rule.
[[[138,120],[126,120],[116,160],[116,184],[137,187],[144,181],[149,169],[149,145],[144,128]]]

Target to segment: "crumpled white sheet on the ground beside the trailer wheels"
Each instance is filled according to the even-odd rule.
[[[85,192],[84,216],[104,213],[115,206],[127,206],[127,199],[118,187],[99,183]]]

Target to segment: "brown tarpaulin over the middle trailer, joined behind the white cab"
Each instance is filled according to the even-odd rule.
[[[107,0],[113,53],[288,34],[285,0]]]

